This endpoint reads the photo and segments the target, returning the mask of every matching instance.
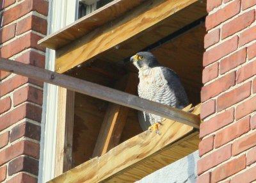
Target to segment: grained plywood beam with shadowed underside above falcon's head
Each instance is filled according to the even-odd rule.
[[[196,0],[147,1],[124,17],[58,49],[56,72],[63,73],[98,56],[105,55],[106,58],[111,58],[110,54],[107,56],[107,52],[111,50],[116,50],[115,61],[120,61],[148,44],[203,17],[205,1],[200,2]],[[148,36],[152,30],[154,34]],[[140,36],[143,42],[140,42]]]

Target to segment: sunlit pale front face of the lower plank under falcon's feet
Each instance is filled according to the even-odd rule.
[[[186,107],[186,109],[188,110],[187,107]],[[192,111],[192,113],[193,112],[194,111]],[[179,128],[180,132],[178,132],[177,134],[176,133],[172,134],[170,136],[168,134],[168,132],[171,132],[171,131],[169,131],[169,129],[172,129],[175,127],[180,127]],[[131,169],[132,167],[136,166],[137,163],[143,163],[143,159],[145,159],[145,158],[147,159],[147,156],[152,157],[152,155],[159,154],[159,153],[163,152],[163,150],[173,147],[174,145],[178,145],[182,141],[189,138],[189,137],[184,138],[184,136],[189,136],[189,135],[191,135],[191,133],[198,134],[198,132],[196,132],[193,127],[189,127],[187,125],[181,125],[179,123],[173,122],[172,120],[165,121],[164,128],[165,128],[164,133],[167,132],[167,134],[163,134],[163,136],[158,136],[157,134],[155,134],[156,136],[154,136],[154,133],[150,133],[148,131],[142,132],[141,134],[138,134],[137,136],[134,136],[133,138],[131,138],[131,139],[121,143],[117,147],[111,149],[107,154],[104,154],[101,157],[95,157],[95,158],[91,159],[90,161],[87,161],[87,162],[77,166],[76,168],[73,168],[72,170],[67,171],[67,173],[63,173],[63,175],[61,175],[60,177],[56,177],[49,182],[68,182],[68,181],[86,182],[86,179],[87,180],[89,179],[89,181],[93,180],[94,182],[104,182],[105,180],[111,179],[111,177],[116,177],[116,176],[120,175],[120,173],[124,172],[125,170]],[[174,129],[172,129],[172,131],[173,130]],[[152,138],[153,136],[155,138]],[[163,141],[162,141],[162,143],[159,143],[160,139],[164,139],[164,143],[163,143]],[[182,140],[180,141],[180,139],[182,139]],[[137,141],[138,143],[140,141],[141,141],[141,143],[145,143],[145,141],[151,141],[151,143],[157,144],[158,147],[154,146],[154,148],[150,149],[147,152],[147,155],[144,155],[144,157],[136,156],[137,160],[134,160],[135,163],[132,163],[132,164],[128,163],[127,167],[125,167],[121,170],[120,170],[120,168],[122,168],[122,166],[120,166],[120,165],[122,164],[122,162],[120,162],[121,164],[117,163],[117,164],[113,165],[113,166],[117,166],[117,170],[115,170],[116,167],[112,168],[112,166],[110,166],[109,164],[105,164],[105,163],[111,163],[111,161],[114,161],[114,160],[115,161],[118,161],[118,159],[120,160],[120,151],[122,152],[122,150],[125,149],[127,147],[127,145],[129,146],[130,143],[132,144],[132,146],[129,146],[129,149],[127,149],[129,151],[131,151],[133,149],[132,147],[136,147],[138,145],[137,143],[135,143],[135,144],[132,143],[134,141]],[[146,142],[146,144],[148,147],[150,147],[150,143]],[[161,145],[159,146],[159,144],[161,144]],[[141,152],[136,152],[136,153],[141,154]],[[144,154],[145,154],[145,152],[144,152]],[[123,155],[121,155],[121,156],[123,156]],[[112,157],[112,159],[111,159],[111,157]],[[123,159],[123,157],[122,157],[122,159]],[[127,159],[131,160],[131,157],[127,157]],[[108,161],[106,161],[106,160],[108,160]],[[107,171],[107,172],[111,172],[112,174],[106,175],[106,173],[102,173],[100,171],[100,168],[102,168],[100,166],[100,164],[102,164],[102,163],[108,168],[111,167],[110,168],[111,170],[105,170],[104,168],[103,168],[103,170]],[[98,167],[98,166],[100,166],[100,167]],[[97,173],[97,175],[95,175],[95,173]],[[72,178],[70,179],[68,177],[72,177]],[[84,177],[85,177],[85,180],[84,180]]]

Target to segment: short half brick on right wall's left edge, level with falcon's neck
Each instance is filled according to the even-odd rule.
[[[212,79],[218,77],[218,74],[219,74],[218,71],[219,71],[218,63],[214,63],[212,65],[205,67],[202,74],[203,83],[207,83],[208,81],[211,81]]]

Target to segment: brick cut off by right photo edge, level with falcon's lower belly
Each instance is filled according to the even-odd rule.
[[[244,101],[236,107],[236,120],[243,118],[244,116],[252,113],[256,110],[256,96],[249,100]]]

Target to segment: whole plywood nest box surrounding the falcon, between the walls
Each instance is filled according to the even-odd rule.
[[[115,0],[39,44],[56,50],[56,72],[133,95],[138,71],[126,61],[151,51],[177,72],[199,115],[205,15],[205,1]],[[74,100],[77,167],[51,182],[134,182],[198,149],[188,125],[166,120],[159,136],[143,132],[135,109],[81,93]]]

